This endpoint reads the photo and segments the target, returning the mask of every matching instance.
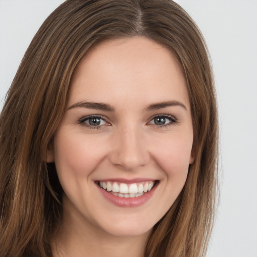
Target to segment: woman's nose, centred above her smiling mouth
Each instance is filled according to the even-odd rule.
[[[115,166],[132,171],[150,160],[147,141],[135,127],[120,128],[112,138],[110,161]]]

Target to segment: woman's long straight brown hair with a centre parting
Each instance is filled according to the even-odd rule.
[[[215,90],[204,39],[172,0],[67,0],[33,38],[0,116],[0,255],[52,256],[62,188],[46,152],[65,112],[72,74],[105,39],[142,35],[166,46],[187,80],[195,161],[186,184],[155,225],[145,256],[204,256],[217,192]]]

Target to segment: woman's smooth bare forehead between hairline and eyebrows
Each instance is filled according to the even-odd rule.
[[[145,37],[113,39],[91,48],[77,66],[70,100],[171,100],[188,103],[182,69],[163,45]],[[166,98],[166,99],[164,99]]]

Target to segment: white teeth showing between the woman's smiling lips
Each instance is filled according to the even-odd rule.
[[[134,198],[142,196],[151,191],[157,182],[158,180],[126,184],[112,181],[97,181],[96,184],[100,188],[115,196]]]

